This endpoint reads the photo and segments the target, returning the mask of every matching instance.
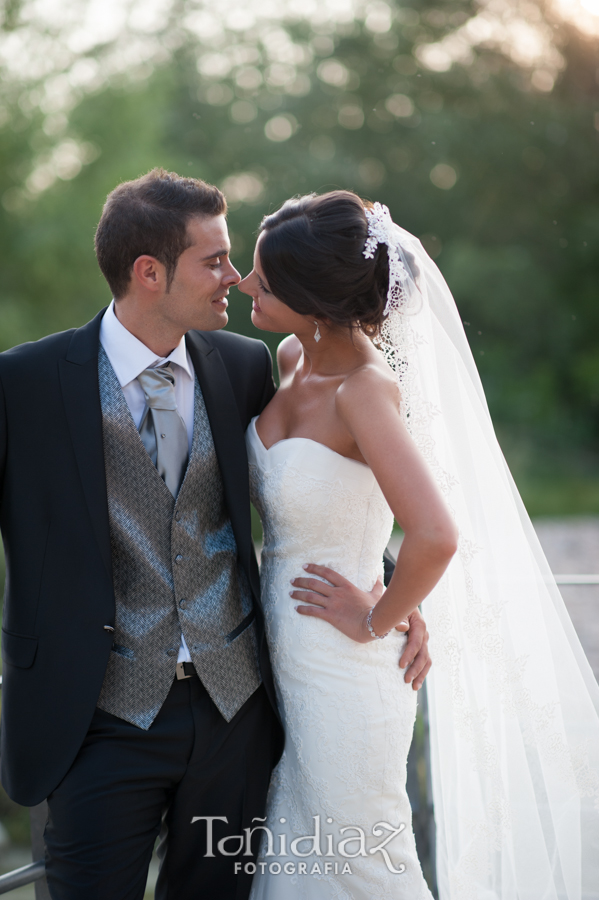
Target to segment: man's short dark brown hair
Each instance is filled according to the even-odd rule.
[[[115,299],[127,293],[133,263],[146,254],[166,267],[170,287],[177,261],[190,246],[188,220],[226,212],[227,201],[217,187],[164,169],[119,184],[106,199],[95,241]]]

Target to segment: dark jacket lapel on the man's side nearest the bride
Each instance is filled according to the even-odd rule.
[[[251,582],[248,460],[235,395],[218,350],[197,332],[187,335],[187,348],[206,404],[239,557]]]

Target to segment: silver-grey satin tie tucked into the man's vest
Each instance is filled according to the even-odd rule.
[[[145,369],[137,380],[146,397],[139,436],[158,474],[176,497],[187,468],[187,428],[177,409],[175,376],[168,365]]]

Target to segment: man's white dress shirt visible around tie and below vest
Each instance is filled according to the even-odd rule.
[[[154,369],[156,366],[164,366],[169,362],[175,376],[175,399],[179,415],[187,428],[189,452],[191,453],[195,372],[185,346],[185,338],[181,338],[169,356],[156,356],[153,350],[142,344],[134,334],[131,334],[119,322],[114,305],[113,300],[102,317],[100,343],[104,347],[106,356],[110,360],[110,365],[119,380],[127,406],[135,422],[135,427],[139,429],[146,409],[146,398],[137,376],[145,369]],[[183,635],[181,635],[181,646],[177,662],[191,662],[191,656]]]

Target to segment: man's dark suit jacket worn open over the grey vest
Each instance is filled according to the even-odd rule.
[[[25,806],[60,782],[102,687],[115,602],[98,345],[103,311],[82,328],[0,354],[1,779]],[[257,612],[264,685],[276,709],[250,531],[244,431],[274,393],[261,341],[190,332],[225,497]],[[280,749],[280,748],[277,748]],[[266,752],[271,752],[266,748]]]

